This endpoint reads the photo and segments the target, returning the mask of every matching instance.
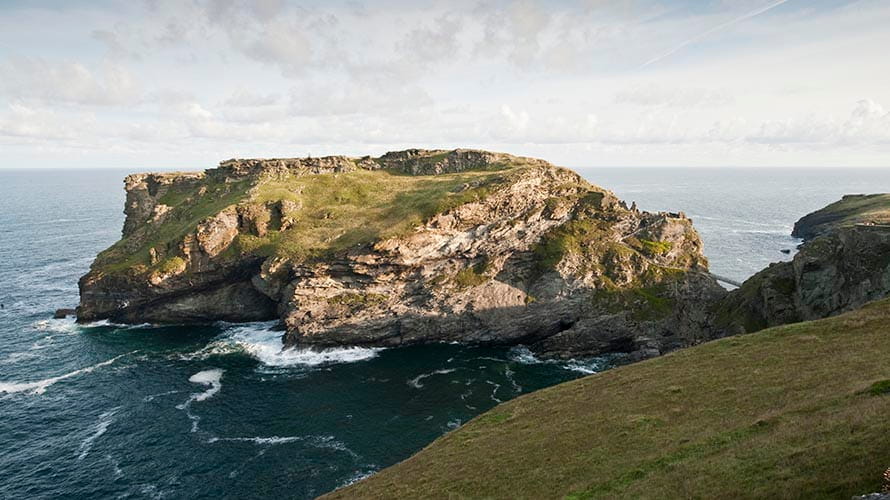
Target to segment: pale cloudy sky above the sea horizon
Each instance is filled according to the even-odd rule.
[[[0,2],[0,167],[890,166],[886,0]]]

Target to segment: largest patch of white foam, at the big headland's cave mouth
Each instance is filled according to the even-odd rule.
[[[377,356],[382,348],[342,347],[333,349],[285,349],[276,322],[247,323],[231,326],[217,340],[199,351],[180,356],[183,359],[207,359],[211,356],[243,352],[266,366],[319,366],[351,363]]]

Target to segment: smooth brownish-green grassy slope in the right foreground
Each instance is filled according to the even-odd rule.
[[[849,498],[890,467],[890,300],[485,413],[331,498]]]

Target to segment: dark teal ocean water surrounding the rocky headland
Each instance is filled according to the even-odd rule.
[[[884,169],[582,169],[682,210],[744,279],[791,225]],[[281,351],[271,323],[75,325],[77,279],[120,234],[124,170],[0,170],[0,498],[312,498],[519,394],[608,368],[521,348]],[[595,397],[595,395],[591,395]]]

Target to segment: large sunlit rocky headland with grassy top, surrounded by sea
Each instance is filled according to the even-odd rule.
[[[408,150],[130,176],[78,318],[280,318],[288,345],[525,343],[637,357],[706,340],[723,290],[682,214],[542,160]]]

